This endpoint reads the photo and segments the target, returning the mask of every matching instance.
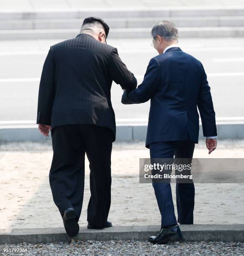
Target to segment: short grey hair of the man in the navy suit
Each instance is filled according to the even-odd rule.
[[[152,30],[151,35],[155,39],[157,36],[163,37],[166,41],[175,41],[178,40],[178,29],[174,23],[169,22],[168,20],[163,20],[156,24]]]

